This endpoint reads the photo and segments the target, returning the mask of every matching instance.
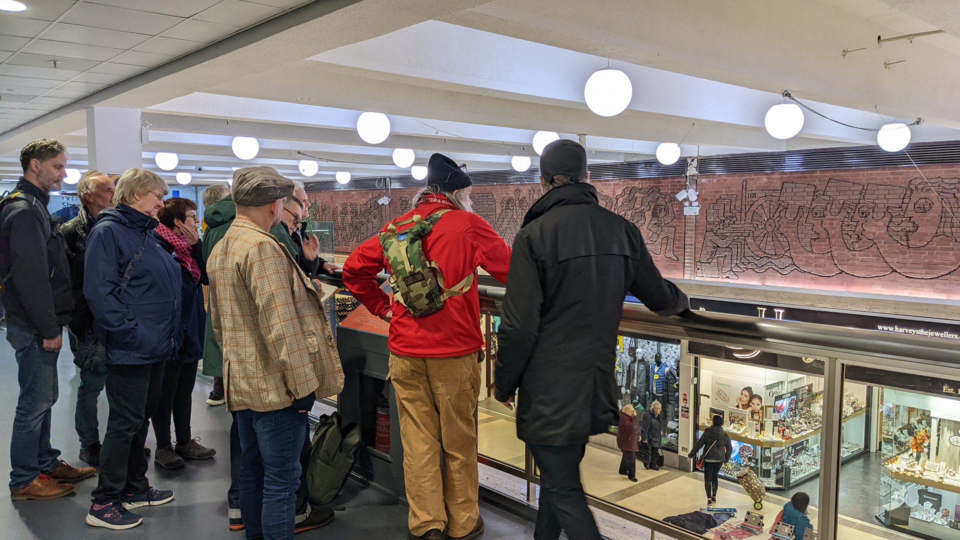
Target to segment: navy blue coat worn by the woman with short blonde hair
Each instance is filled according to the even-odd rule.
[[[180,351],[180,264],[151,232],[156,219],[126,205],[97,216],[86,240],[84,297],[110,364],[152,364]],[[132,258],[140,251],[139,260]],[[130,270],[126,290],[121,291]]]

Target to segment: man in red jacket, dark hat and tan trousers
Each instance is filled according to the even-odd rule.
[[[467,173],[449,158],[434,154],[426,178],[426,187],[414,197],[415,208],[391,223],[451,210],[421,240],[423,253],[437,262],[444,282],[461,282],[478,266],[507,282],[510,247],[472,212]],[[390,379],[400,415],[409,538],[478,538],[483,520],[477,503],[473,412],[480,390],[477,353],[483,335],[476,281],[463,295],[447,298],[439,311],[416,317],[380,289],[376,275],[384,269],[389,264],[374,236],[347,259],[344,284],[371,313],[391,323]]]

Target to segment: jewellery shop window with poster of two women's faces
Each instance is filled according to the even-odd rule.
[[[792,363],[803,365],[800,358]],[[736,481],[752,469],[768,489],[786,490],[819,475],[821,376],[702,356],[699,366],[697,437],[719,416],[732,442],[722,477]],[[849,384],[845,393],[845,460],[864,452],[867,394],[860,384]]]

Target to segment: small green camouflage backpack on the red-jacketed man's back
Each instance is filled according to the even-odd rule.
[[[414,215],[411,219],[391,223],[387,231],[377,234],[383,246],[383,256],[390,265],[390,286],[394,299],[406,307],[410,314],[422,317],[436,313],[452,296],[460,296],[473,285],[473,273],[453,288],[444,287],[444,274],[433,260],[427,260],[421,244],[423,236],[450,210],[436,211],[423,219]],[[413,227],[397,232],[397,227],[413,223]]]

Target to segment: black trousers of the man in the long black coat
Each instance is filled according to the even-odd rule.
[[[530,445],[530,452],[540,468],[540,511],[534,539],[557,540],[565,530],[569,540],[600,540],[580,483],[580,461],[587,445]]]

